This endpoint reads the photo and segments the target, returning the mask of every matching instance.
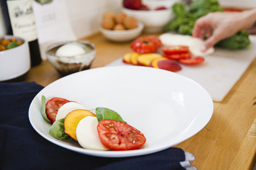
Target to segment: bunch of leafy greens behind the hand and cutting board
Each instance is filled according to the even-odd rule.
[[[165,30],[175,30],[183,35],[192,35],[193,26],[198,18],[205,16],[207,13],[224,11],[220,8],[218,0],[196,0],[191,3],[188,10],[181,3],[172,6],[176,18],[169,23]],[[217,47],[223,47],[230,50],[238,50],[250,45],[249,35],[245,30],[239,31],[235,35],[221,40],[216,44]]]

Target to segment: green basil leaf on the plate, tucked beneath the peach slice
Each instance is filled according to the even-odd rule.
[[[49,135],[55,137],[58,140],[67,140],[70,138],[68,134],[64,132],[64,120],[65,118],[56,120],[50,127]]]

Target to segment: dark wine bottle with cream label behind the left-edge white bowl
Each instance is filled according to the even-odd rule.
[[[14,36],[24,38],[28,42],[31,67],[41,64],[42,58],[33,14],[33,0],[7,0],[6,2]]]

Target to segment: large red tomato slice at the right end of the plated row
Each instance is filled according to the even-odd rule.
[[[102,144],[112,150],[139,149],[146,142],[142,132],[117,120],[101,120],[97,132]]]

